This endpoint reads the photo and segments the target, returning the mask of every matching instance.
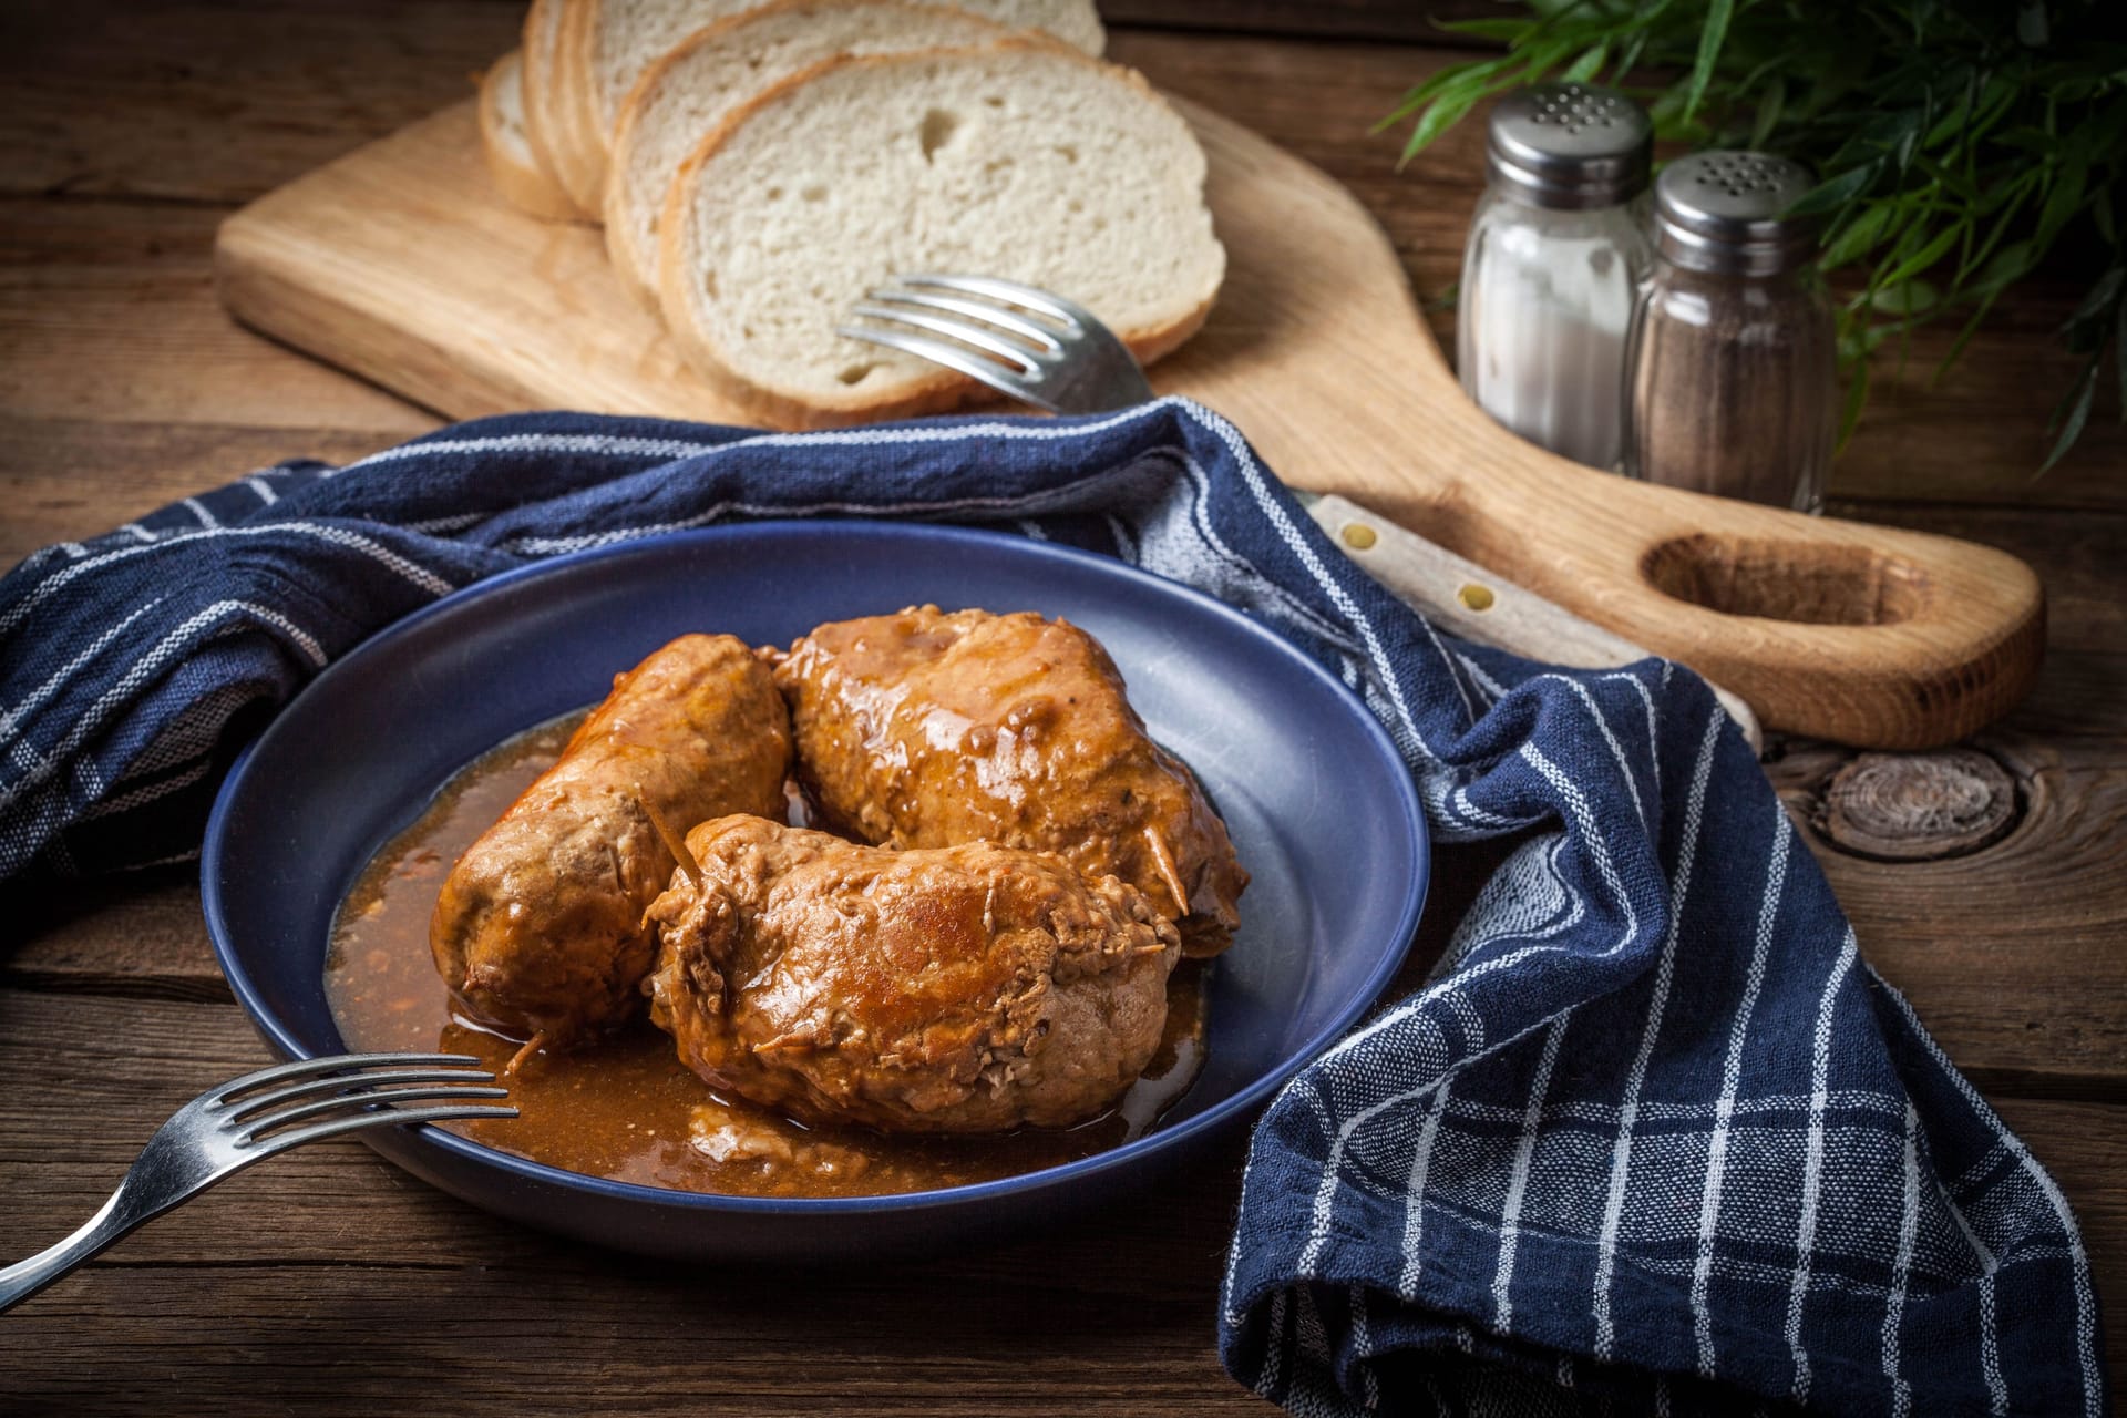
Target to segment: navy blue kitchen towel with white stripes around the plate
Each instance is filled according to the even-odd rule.
[[[987,523],[1242,606],[1504,865],[1259,1122],[1219,1307],[1300,1414],[2099,1414],[2061,1191],[1855,952],[1706,687],[1459,644],[1183,400],[838,434],[523,415],[268,468],[0,580],[0,876],[198,850],[230,740],[481,576],[764,517]],[[2004,904],[2008,910],[2008,904]]]

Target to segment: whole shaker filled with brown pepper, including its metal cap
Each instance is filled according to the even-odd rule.
[[[1785,219],[1802,164],[1693,153],[1655,183],[1655,270],[1634,317],[1629,470],[1651,483],[1816,512],[1838,432],[1838,342]]]

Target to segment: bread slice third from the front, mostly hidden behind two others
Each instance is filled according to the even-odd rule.
[[[568,0],[564,64],[570,113],[559,174],[570,196],[604,206],[606,153],[627,94],[683,38],[719,19],[759,9],[761,0]],[[1093,0],[953,0],[957,9],[1036,26],[1100,53],[1106,34]]]

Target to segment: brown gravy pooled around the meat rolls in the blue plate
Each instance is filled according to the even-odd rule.
[[[500,1069],[519,1044],[451,1014],[428,952],[428,918],[451,863],[562,753],[583,714],[506,740],[462,770],[413,827],[364,867],[332,927],[325,997],[355,1050],[474,1054]],[[1144,1076],[1100,1118],[1002,1137],[893,1137],[808,1129],[721,1097],[638,1020],[568,1054],[536,1054],[510,1080],[521,1116],[449,1122],[455,1133],[551,1167],[674,1191],[864,1197],[964,1186],[1106,1152],[1151,1129],[1204,1063],[1204,965],[1168,980],[1168,1029]]]

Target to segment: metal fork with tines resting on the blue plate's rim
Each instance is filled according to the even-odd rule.
[[[134,1227],[277,1152],[364,1127],[515,1118],[508,1105],[440,1101],[508,1097],[479,1063],[470,1054],[334,1054],[208,1088],[149,1137],[132,1171],[85,1227],[0,1269],[0,1310],[30,1299]],[[302,1127],[294,1127],[298,1122]]]

